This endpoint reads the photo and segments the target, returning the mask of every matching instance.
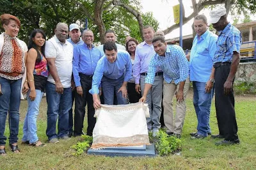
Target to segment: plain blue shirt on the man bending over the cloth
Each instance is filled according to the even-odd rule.
[[[92,89],[90,93],[99,94],[99,85],[103,76],[108,77],[109,79],[119,79],[124,75],[124,81],[129,81],[132,74],[132,63],[130,54],[126,51],[118,51],[116,56],[116,61],[110,63],[106,56],[103,56],[98,61],[96,70],[93,75],[92,80]]]

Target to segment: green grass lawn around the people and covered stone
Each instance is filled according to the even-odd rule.
[[[20,106],[19,139],[22,137],[22,125],[26,114],[27,102]],[[196,130],[196,116],[190,91],[187,100],[187,112],[182,132],[181,155],[166,157],[104,157],[83,155],[77,157],[70,146],[81,140],[72,137],[68,141],[49,144],[44,148],[33,148],[20,144],[21,152],[12,153],[6,144],[6,157],[0,157],[0,169],[255,169],[256,167],[256,100],[255,96],[236,97],[236,116],[238,135],[241,144],[233,146],[215,146],[216,139],[207,137],[202,140],[190,139],[190,132]],[[214,100],[211,108],[212,134],[218,133]],[[84,123],[86,131],[86,123]],[[46,143],[46,102],[40,107],[38,117],[38,137]],[[6,133],[8,136],[8,123]]]

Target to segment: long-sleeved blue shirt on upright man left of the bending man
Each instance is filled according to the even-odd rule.
[[[76,87],[81,86],[79,73],[93,75],[100,56],[100,50],[94,46],[88,49],[88,46],[83,43],[74,47],[73,76]]]

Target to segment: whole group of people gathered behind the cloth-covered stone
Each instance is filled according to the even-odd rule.
[[[164,33],[155,33],[148,25],[143,27],[141,43],[127,37],[125,46],[120,45],[116,43],[115,32],[109,29],[105,33],[106,43],[95,47],[90,29],[81,33],[77,24],[70,24],[68,30],[68,25],[60,22],[54,29],[55,35],[47,42],[44,31],[33,30],[27,47],[17,38],[20,28],[17,17],[3,14],[1,23],[5,32],[0,35],[0,155],[6,155],[7,115],[10,148],[15,153],[20,151],[17,135],[20,98],[24,98],[24,93],[27,93],[28,111],[22,143],[45,146],[36,134],[36,118],[44,91],[49,143],[84,134],[86,104],[86,133],[92,135],[96,123],[93,115],[101,104],[139,101],[149,107],[148,132],[154,137],[157,135],[163,109],[166,133],[180,138],[190,81],[198,120],[197,132],[191,133],[191,139],[211,135],[209,118],[215,88],[220,132],[211,137],[223,138],[216,145],[239,143],[232,85],[239,65],[241,33],[227,21],[225,8],[210,12],[209,23],[218,31],[218,36],[209,31],[205,15],[195,17],[196,36],[188,55],[178,45],[167,45]],[[177,99],[175,117],[173,97]]]

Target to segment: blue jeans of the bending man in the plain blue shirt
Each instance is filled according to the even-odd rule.
[[[104,104],[113,105],[114,104],[114,93],[116,93],[116,99],[118,104],[128,104],[127,99],[122,97],[122,91],[118,91],[121,88],[124,82],[124,75],[119,79],[109,79],[108,77],[103,76],[102,90],[104,93]]]

